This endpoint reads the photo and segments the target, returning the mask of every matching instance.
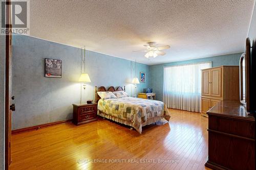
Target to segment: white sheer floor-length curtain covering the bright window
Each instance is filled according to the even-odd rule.
[[[164,67],[163,102],[168,108],[200,112],[201,69],[212,62]]]

